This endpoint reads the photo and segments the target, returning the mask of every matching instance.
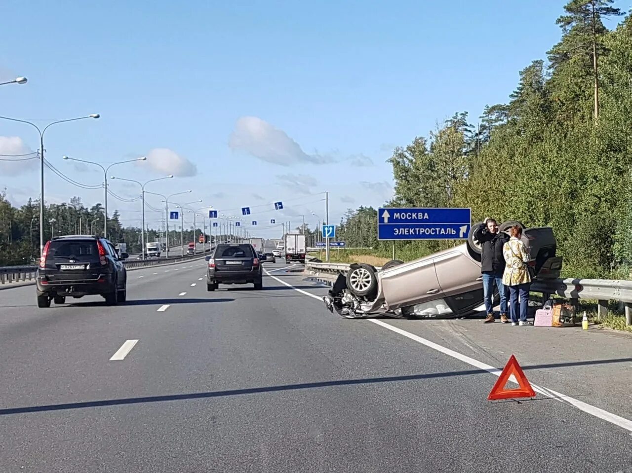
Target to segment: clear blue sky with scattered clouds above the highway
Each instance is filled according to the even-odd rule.
[[[62,156],[110,163],[147,155],[110,174],[172,172],[147,189],[191,189],[185,201],[203,200],[195,208],[231,215],[251,206],[253,232],[279,236],[269,219],[294,227],[305,213],[315,226],[310,211],[324,216],[324,191],[332,222],[346,208],[387,200],[392,148],[454,112],[476,123],[485,104],[506,102],[518,71],[559,40],[563,4],[4,0],[0,79],[28,83],[0,87],[0,115],[46,124],[99,113],[46,132],[47,159],[61,172],[99,184],[96,167]],[[37,150],[38,136],[0,120],[0,153]],[[0,188],[13,203],[39,196],[35,160],[1,166]],[[138,195],[121,183],[111,189]],[[47,201],[78,195],[93,205],[102,193],[46,174]],[[286,210],[273,210],[277,200]],[[154,196],[147,202],[162,206]],[[139,202],[109,198],[114,208],[124,224],[140,224]],[[147,213],[150,226],[161,218]]]

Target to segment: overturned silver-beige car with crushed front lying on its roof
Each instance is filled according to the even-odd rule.
[[[481,246],[473,236],[480,223],[472,225],[466,243],[419,260],[392,260],[380,270],[353,263],[323,297],[325,306],[346,318],[454,318],[475,313],[483,304]],[[562,258],[556,256],[553,230],[525,229],[512,220],[504,222],[500,231],[508,232],[516,224],[523,227],[522,240],[531,256],[528,264],[535,268],[536,277],[558,278]]]

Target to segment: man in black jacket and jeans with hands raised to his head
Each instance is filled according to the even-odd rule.
[[[502,284],[502,273],[505,270],[505,258],[502,256],[502,246],[509,241],[507,234],[499,232],[498,224],[494,219],[487,217],[478,229],[474,231],[474,239],[480,242],[483,252],[481,254],[480,270],[483,274],[483,300],[487,317],[484,323],[492,323],[494,319],[494,284],[501,296],[501,322],[507,323],[507,290]]]

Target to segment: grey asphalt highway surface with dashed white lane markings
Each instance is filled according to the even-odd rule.
[[[325,287],[264,267],[258,291],[207,292],[204,261],[129,272],[116,307],[1,291],[0,472],[632,472],[629,402],[489,402],[496,376],[448,350],[463,333],[332,316],[307,295]]]

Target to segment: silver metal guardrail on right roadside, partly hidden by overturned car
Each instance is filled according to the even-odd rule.
[[[349,265],[344,263],[314,263],[313,261],[305,263],[306,272],[330,282],[339,274],[346,275],[348,270]],[[597,300],[597,310],[600,317],[607,314],[608,301],[619,301],[624,304],[626,324],[632,325],[632,281],[578,278],[542,279],[535,280],[530,290],[531,292],[542,292],[545,298],[550,294],[556,294],[572,301],[578,299]]]

